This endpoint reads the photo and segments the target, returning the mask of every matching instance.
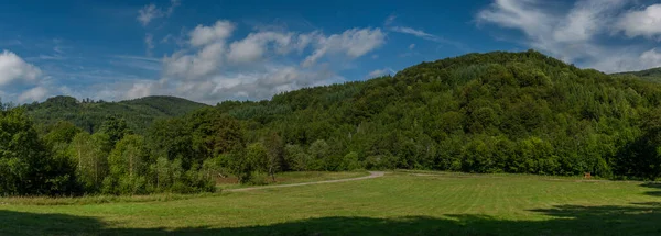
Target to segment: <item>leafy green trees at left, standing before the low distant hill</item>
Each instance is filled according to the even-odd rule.
[[[23,108],[0,113],[0,195],[213,192],[204,160],[242,144],[240,124],[213,109],[160,120],[147,135],[109,116],[90,134],[59,121],[39,135]]]

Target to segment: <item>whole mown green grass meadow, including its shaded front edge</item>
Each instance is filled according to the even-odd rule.
[[[660,223],[661,186],[438,172],[176,201],[0,205],[6,235],[661,235]]]

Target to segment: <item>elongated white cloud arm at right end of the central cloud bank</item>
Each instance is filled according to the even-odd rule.
[[[312,66],[326,54],[344,54],[350,58],[360,57],[386,43],[381,29],[351,29],[328,37],[319,36],[315,50],[303,61],[304,67]]]

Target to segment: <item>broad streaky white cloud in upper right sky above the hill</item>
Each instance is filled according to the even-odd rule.
[[[604,40],[616,36],[614,26],[629,22],[626,0],[579,0],[568,10],[542,0],[496,0],[479,11],[479,24],[521,31],[525,44],[567,63],[579,63],[606,72],[659,67],[654,46],[617,46]],[[620,23],[618,23],[620,22]],[[617,26],[615,26],[617,29]],[[640,31],[632,30],[635,34]],[[611,38],[613,40],[613,38]],[[617,55],[617,56],[615,56]]]

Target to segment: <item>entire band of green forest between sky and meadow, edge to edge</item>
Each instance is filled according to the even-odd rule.
[[[87,101],[4,105],[0,194],[214,191],[219,176],[260,183],[299,170],[657,179],[661,86],[648,80],[495,52],[191,112],[174,100],[109,103],[144,115],[97,115],[95,128],[67,109]]]

